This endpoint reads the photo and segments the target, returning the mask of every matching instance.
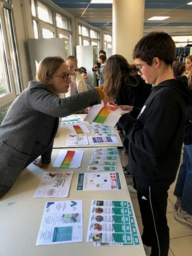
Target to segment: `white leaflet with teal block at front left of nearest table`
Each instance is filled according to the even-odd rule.
[[[82,200],[47,202],[36,245],[83,242]]]

